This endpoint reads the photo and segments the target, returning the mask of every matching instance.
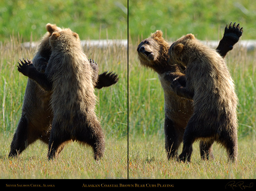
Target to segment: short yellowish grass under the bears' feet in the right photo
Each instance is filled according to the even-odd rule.
[[[167,160],[162,136],[129,138],[129,178],[135,179],[255,179],[255,137],[239,139],[237,163],[227,161],[226,151],[213,144],[214,160],[200,159],[199,143],[193,145],[190,163]],[[181,150],[179,151],[179,153]],[[174,181],[175,182],[175,181]]]

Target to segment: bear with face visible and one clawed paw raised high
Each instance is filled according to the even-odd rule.
[[[219,42],[217,51],[222,57],[239,41],[243,28],[240,25],[226,26],[224,36]],[[168,159],[177,157],[177,149],[183,141],[183,134],[187,122],[193,113],[193,100],[177,96],[171,88],[171,81],[178,79],[186,86],[185,74],[177,65],[168,64],[169,45],[163,39],[162,32],[156,31],[149,38],[144,39],[137,51],[140,63],[157,72],[161,82],[165,99],[165,148]],[[202,159],[213,158],[212,143],[200,141],[200,155]]]

